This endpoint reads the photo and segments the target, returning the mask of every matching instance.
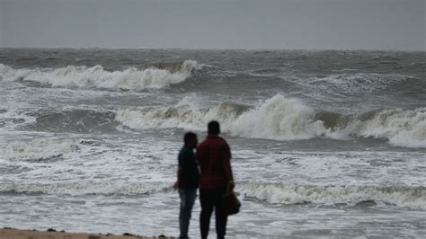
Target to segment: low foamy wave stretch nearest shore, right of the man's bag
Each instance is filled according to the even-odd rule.
[[[285,183],[243,183],[236,191],[244,197],[276,204],[315,203],[355,205],[373,200],[404,208],[426,209],[424,187],[310,186]]]

